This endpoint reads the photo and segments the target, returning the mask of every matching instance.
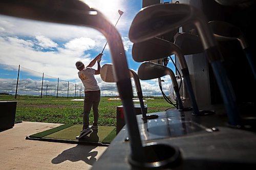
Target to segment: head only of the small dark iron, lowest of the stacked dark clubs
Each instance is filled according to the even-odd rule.
[[[138,76],[141,80],[151,80],[163,77],[167,72],[167,67],[161,64],[144,62],[139,66]]]

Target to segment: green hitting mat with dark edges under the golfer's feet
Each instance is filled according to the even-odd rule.
[[[114,126],[98,126],[98,130],[93,130],[89,135],[76,139],[81,130],[82,125],[61,125],[30,135],[26,139],[108,146],[116,137],[116,127]]]

